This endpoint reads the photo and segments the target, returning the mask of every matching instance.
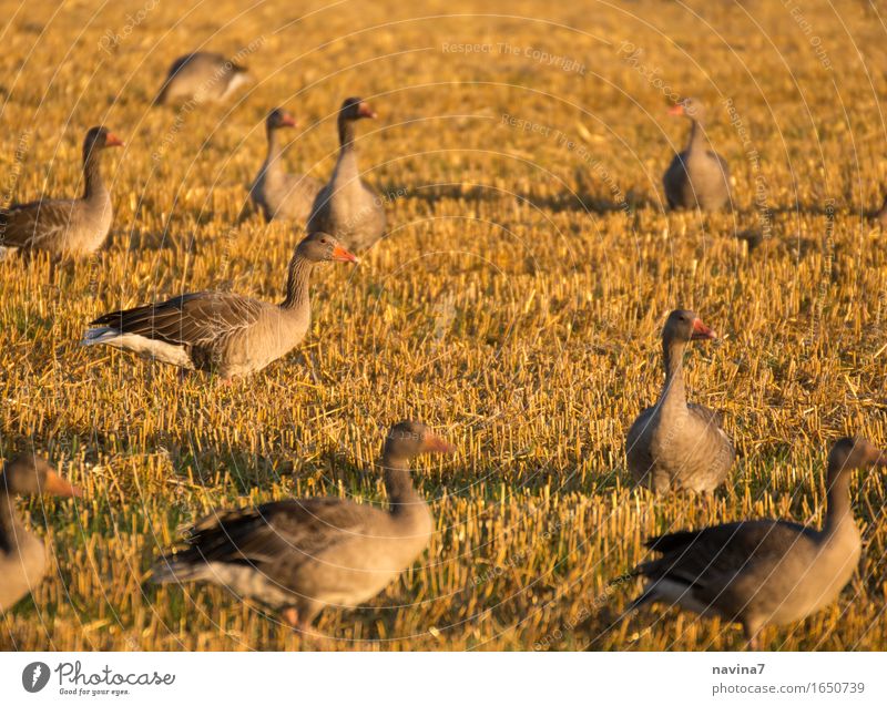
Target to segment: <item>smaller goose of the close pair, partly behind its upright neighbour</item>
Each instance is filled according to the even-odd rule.
[[[275,108],[265,120],[268,136],[268,154],[249,190],[256,208],[262,211],[265,221],[288,218],[304,221],[312,211],[312,204],[320,191],[316,178],[303,174],[287,174],[281,161],[283,147],[277,132],[282,127],[295,127],[296,121],[285,110]]]

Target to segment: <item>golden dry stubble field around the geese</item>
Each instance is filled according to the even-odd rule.
[[[551,20],[520,1],[498,17],[435,17],[472,11],[452,0],[422,10],[160,2],[112,55],[100,50],[128,12],[151,4],[55,13],[2,3],[8,195],[80,188],[91,124],[128,147],[106,160],[116,208],[106,252],[54,280],[39,258],[0,264],[2,451],[33,446],[86,491],[78,503],[24,505],[45,528],[54,571],[3,617],[0,645],[317,646],[224,591],[142,587],[152,556],[218,504],[294,492],[383,500],[371,470],[383,430],[415,417],[460,448],[416,471],[439,532],[373,604],[325,613],[324,647],[741,646],[733,627],[659,610],[602,634],[636,590],[606,584],[642,559],[651,533],[740,516],[818,520],[828,443],[858,432],[887,444],[887,255],[861,217],[887,182],[875,11],[843,3],[838,21],[827,3],[804,3],[830,71],[782,3],[766,2],[693,2],[700,16],[660,2],[548,3]],[[242,102],[184,115],[177,131],[174,111],[147,110],[173,55],[203,42],[233,54],[257,40],[244,62],[261,80]],[[675,91],[708,102],[712,140],[733,165],[733,215],[663,213],[660,175],[686,125],[625,61],[625,40],[643,48],[648,73],[659,68]],[[445,42],[538,48],[584,75]],[[361,165],[401,195],[388,206],[389,239],[366,262],[317,274],[306,345],[231,389],[78,347],[94,316],[185,287],[278,298],[298,234],[258,219],[232,227],[264,154],[262,120],[272,105],[293,109],[303,130],[288,163],[325,176],[332,115],[351,94],[380,114],[363,126]],[[503,113],[550,136],[507,127]],[[758,180],[772,233],[750,249],[735,234],[759,225]],[[622,454],[628,424],[659,389],[657,332],[679,304],[725,334],[693,349],[690,376],[742,451],[706,508],[633,490]],[[860,477],[854,493],[859,573],[827,610],[768,631],[767,647],[887,647],[884,472]]]

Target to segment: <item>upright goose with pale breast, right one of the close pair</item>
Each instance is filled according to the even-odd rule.
[[[308,217],[308,233],[332,233],[355,250],[365,250],[385,234],[385,208],[381,199],[360,178],[355,123],[376,117],[375,111],[359,98],[341,104],[338,116],[339,157],[333,176],[317,197]]]

